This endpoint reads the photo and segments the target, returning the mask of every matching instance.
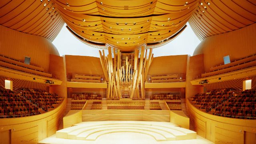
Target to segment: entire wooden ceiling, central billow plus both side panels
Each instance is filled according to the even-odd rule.
[[[256,22],[256,0],[0,0],[0,24],[54,40],[64,22],[82,42],[134,51],[176,38],[186,22],[200,40]]]

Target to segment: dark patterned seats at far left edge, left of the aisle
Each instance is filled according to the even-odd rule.
[[[14,118],[40,114],[38,107],[11,90],[0,89],[0,118]]]

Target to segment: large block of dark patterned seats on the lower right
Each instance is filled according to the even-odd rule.
[[[217,116],[256,119],[256,91],[232,89],[197,94],[191,101],[197,108]]]

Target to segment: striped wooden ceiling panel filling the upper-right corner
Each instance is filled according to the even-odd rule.
[[[188,21],[200,40],[256,22],[256,0],[200,0]]]

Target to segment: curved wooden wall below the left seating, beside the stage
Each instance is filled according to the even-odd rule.
[[[50,112],[22,118],[2,118],[0,119],[0,134],[11,130],[12,144],[23,144],[24,142],[37,144],[38,141],[55,134],[58,130],[65,105],[66,99]]]

